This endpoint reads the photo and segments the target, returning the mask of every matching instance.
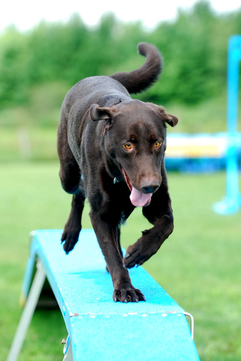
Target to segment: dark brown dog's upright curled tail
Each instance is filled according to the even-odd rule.
[[[162,70],[162,57],[154,45],[139,43],[137,49],[141,55],[146,56],[146,61],[140,68],[130,73],[120,72],[110,75],[124,85],[129,93],[138,93],[151,86]]]

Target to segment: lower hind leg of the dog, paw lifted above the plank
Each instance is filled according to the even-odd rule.
[[[72,208],[68,221],[64,227],[61,241],[64,242],[64,251],[68,254],[74,248],[81,231],[81,216],[84,209],[85,197],[82,194],[73,195]]]

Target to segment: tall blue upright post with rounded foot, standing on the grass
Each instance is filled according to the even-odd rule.
[[[241,135],[237,131],[238,120],[238,85],[241,61],[241,35],[233,35],[228,44],[227,72],[227,194],[223,201],[214,205],[219,214],[235,213],[241,206],[238,187],[238,147]]]

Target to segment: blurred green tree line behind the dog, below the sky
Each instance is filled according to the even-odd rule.
[[[161,81],[138,97],[197,104],[226,88],[227,41],[240,33],[241,9],[217,15],[206,1],[180,9],[175,21],[152,31],[113,14],[94,28],[78,14],[67,23],[42,21],[27,32],[11,26],[0,36],[0,109],[27,105],[32,90],[43,84],[55,84],[50,92],[64,84],[65,91],[85,77],[136,69],[144,61],[136,51],[141,41],[160,49],[164,70]]]

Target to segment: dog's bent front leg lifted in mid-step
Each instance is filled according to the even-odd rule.
[[[127,248],[123,260],[126,268],[142,265],[158,251],[173,231],[173,212],[165,176],[159,190],[152,195],[151,204],[144,207],[142,213],[154,227],[142,231],[137,242]]]

